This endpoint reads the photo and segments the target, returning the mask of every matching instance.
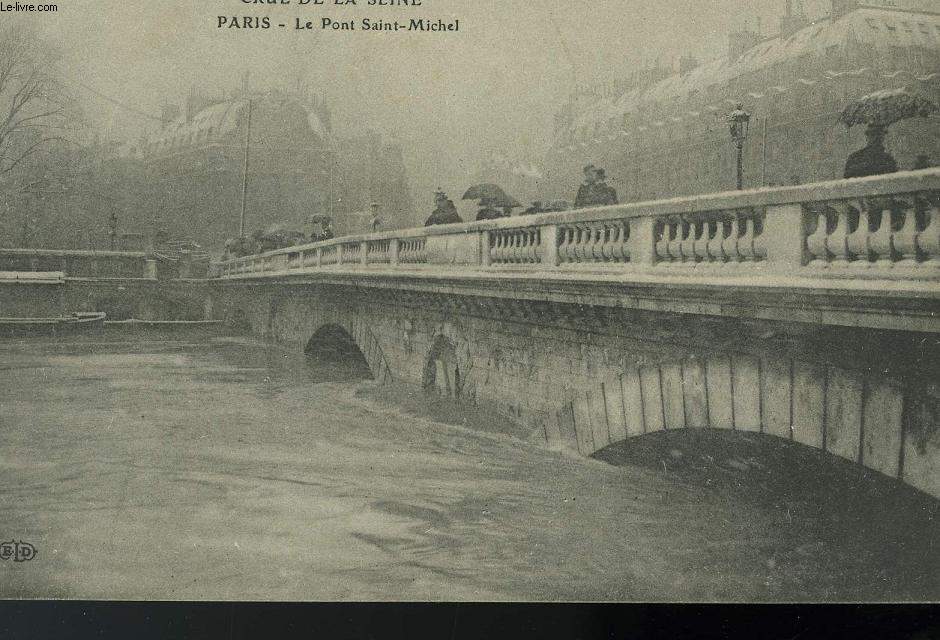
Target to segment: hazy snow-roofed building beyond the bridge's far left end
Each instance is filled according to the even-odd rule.
[[[303,228],[330,215],[342,231],[375,202],[394,221],[410,211],[401,150],[377,133],[333,131],[322,103],[278,92],[224,100],[191,95],[156,134],[126,145],[115,164],[133,207],[122,231],[164,231],[212,249],[272,224]],[[244,213],[243,213],[244,212]]]

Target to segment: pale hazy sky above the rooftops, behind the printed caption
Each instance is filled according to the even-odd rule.
[[[576,82],[610,82],[654,61],[725,50],[745,25],[777,29],[784,0],[421,0],[421,7],[247,5],[242,0],[59,0],[28,18],[56,43],[66,81],[105,135],[136,137],[190,87],[213,94],[302,80],[346,131],[405,150],[414,191],[458,190],[491,151],[537,154]],[[804,0],[810,15],[827,0]],[[458,33],[218,29],[218,16],[460,19]],[[6,14],[4,19],[9,18]],[[758,23],[759,20],[759,23]],[[123,103],[105,101],[77,83]],[[537,161],[538,158],[532,158]]]

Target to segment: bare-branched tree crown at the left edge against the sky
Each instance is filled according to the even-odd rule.
[[[0,30],[0,178],[63,140],[70,105],[48,43],[21,25]]]

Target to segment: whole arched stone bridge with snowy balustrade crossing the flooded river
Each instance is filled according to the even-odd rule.
[[[940,497],[937,169],[344,237],[213,280],[219,317],[354,343],[379,381],[584,455],[759,432]]]

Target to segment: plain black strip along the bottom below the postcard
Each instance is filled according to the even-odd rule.
[[[934,605],[0,602],[0,638],[940,638]]]

